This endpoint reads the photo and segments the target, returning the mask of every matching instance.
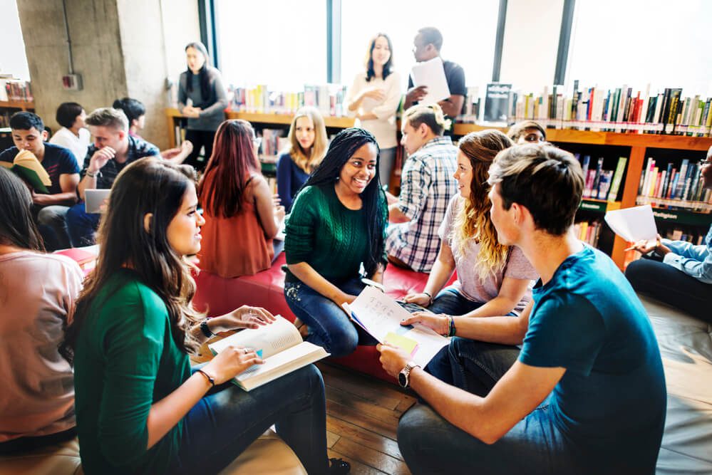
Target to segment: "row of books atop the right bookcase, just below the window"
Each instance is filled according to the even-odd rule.
[[[608,132],[710,135],[712,98],[683,97],[681,88],[652,93],[650,85],[644,91],[627,85],[579,90],[579,81],[574,81],[570,93],[563,88],[554,85],[540,94],[513,95],[514,121],[537,120],[545,127]]]

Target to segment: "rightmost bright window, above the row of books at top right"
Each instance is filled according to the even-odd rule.
[[[712,94],[712,1],[577,0],[566,82]]]

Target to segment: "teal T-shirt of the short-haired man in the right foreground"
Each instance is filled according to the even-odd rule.
[[[621,271],[585,246],[534,289],[519,360],[565,367],[549,414],[592,473],[654,473],[666,387],[645,309]]]

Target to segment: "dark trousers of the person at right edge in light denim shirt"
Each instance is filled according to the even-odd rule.
[[[712,285],[666,263],[638,259],[628,264],[626,278],[644,293],[696,318],[712,323]]]

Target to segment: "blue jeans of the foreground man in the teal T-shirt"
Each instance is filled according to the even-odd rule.
[[[443,364],[435,367],[450,369],[443,380],[449,379],[450,384],[485,396],[514,364],[518,354],[519,349],[513,346],[455,337],[435,355],[428,368],[439,359]],[[548,414],[547,400],[491,445],[450,424],[431,407],[416,404],[398,423],[398,447],[414,475],[582,471],[566,437]]]

